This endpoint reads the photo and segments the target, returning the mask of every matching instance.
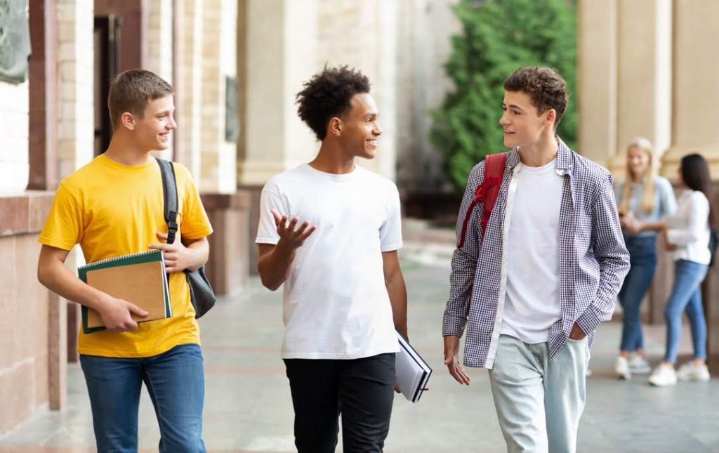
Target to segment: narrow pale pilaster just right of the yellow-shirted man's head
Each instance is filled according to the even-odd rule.
[[[178,2],[178,80],[175,88],[179,99],[177,160],[200,180],[201,99],[202,99],[202,37],[203,0]]]

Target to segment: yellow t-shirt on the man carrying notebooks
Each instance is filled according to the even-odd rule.
[[[212,232],[190,172],[175,163],[178,185],[178,239],[200,239]],[[99,155],[65,178],[55,193],[42,228],[41,244],[71,250],[80,244],[86,262],[150,250],[168,232],[162,175],[153,160],[127,166]],[[181,235],[181,236],[180,236]],[[181,272],[170,274],[173,316],[139,324],[132,332],[98,331],[78,337],[80,354],[150,357],[178,344],[200,342],[195,310]]]

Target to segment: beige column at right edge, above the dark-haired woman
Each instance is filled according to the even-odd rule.
[[[674,179],[679,160],[701,152],[719,179],[719,2],[674,1],[674,89],[672,147],[661,173]]]

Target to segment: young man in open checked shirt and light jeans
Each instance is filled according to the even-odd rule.
[[[468,212],[484,180],[472,169],[457,220],[444,311],[444,363],[489,369],[510,452],[574,452],[597,326],[610,319],[629,270],[612,178],[555,135],[569,94],[549,68],[521,68],[504,83],[504,145],[511,147],[492,214]]]

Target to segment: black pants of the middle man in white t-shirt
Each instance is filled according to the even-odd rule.
[[[381,453],[390,430],[395,354],[354,360],[285,359],[298,453],[331,453],[342,413],[344,453]]]

